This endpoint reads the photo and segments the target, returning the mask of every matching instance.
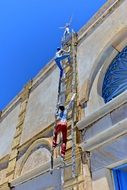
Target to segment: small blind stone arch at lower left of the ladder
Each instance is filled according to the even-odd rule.
[[[15,178],[50,162],[51,154],[46,143],[43,139],[33,141],[27,151],[17,160]]]

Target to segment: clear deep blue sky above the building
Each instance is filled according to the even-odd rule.
[[[78,31],[106,0],[0,1],[0,109],[54,56],[73,15]]]

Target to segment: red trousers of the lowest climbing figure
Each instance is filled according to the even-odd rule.
[[[67,123],[66,122],[58,122],[54,129],[54,137],[53,137],[53,147],[57,145],[57,136],[59,133],[62,133],[62,144],[61,144],[61,156],[65,156],[66,152],[66,144],[67,144]]]

